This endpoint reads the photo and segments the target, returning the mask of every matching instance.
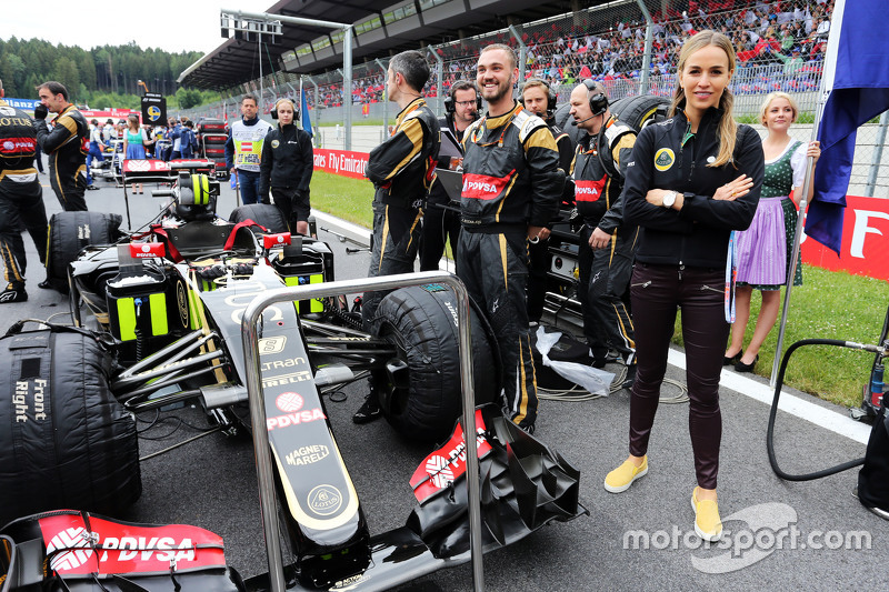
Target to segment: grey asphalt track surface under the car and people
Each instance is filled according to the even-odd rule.
[[[43,181],[48,213],[58,202]],[[91,210],[124,213],[123,192],[107,181],[87,193]],[[150,187],[146,185],[149,191]],[[133,227],[159,211],[161,200],[130,195]],[[227,214],[234,192],[224,185],[218,211]],[[319,227],[326,225],[319,223]],[[126,218],[124,218],[126,227]],[[319,232],[336,253],[337,279],[364,277],[367,253],[346,254],[350,243]],[[22,318],[46,319],[68,311],[67,299],[40,290],[43,270],[33,244],[29,251],[26,303],[2,307],[4,327]],[[351,245],[353,247],[353,245]],[[64,317],[57,321],[66,321]],[[879,328],[873,328],[875,338]],[[842,335],[809,335],[842,338]],[[681,351],[671,361],[681,364]],[[826,363],[829,372],[829,363]],[[728,377],[720,391],[723,418],[720,511],[727,535],[721,548],[707,549],[693,534],[690,506],[695,472],[688,435],[687,404],[661,404],[651,437],[647,476],[627,492],[602,489],[606,473],[627,455],[629,394],[619,391],[586,402],[541,401],[537,437],[581,471],[581,501],[589,516],[553,523],[512,546],[485,558],[485,588],[492,591],[540,590],[886,590],[889,522],[873,515],[851,495],[857,470],[811,482],[778,479],[766,455],[769,407],[745,395],[763,391],[765,380]],[[728,378],[726,378],[728,377]],[[671,365],[668,378],[685,382]],[[865,377],[862,377],[862,382]],[[727,382],[735,389],[729,390]],[[665,395],[671,391],[665,387]],[[351,414],[363,400],[361,385],[344,389],[343,402],[327,402],[330,422],[354,481],[371,533],[403,524],[413,505],[408,483],[430,451],[398,438],[384,421],[358,427]],[[796,393],[801,401],[842,419],[846,410]],[[833,415],[833,413],[836,415]],[[148,415],[148,414],[146,414]],[[196,425],[202,414],[183,409],[172,415]],[[153,418],[146,417],[146,420]],[[160,450],[198,432],[170,419],[146,430],[141,453]],[[167,438],[169,432],[173,432]],[[780,412],[777,438],[782,469],[802,473],[861,456],[865,445]],[[230,565],[249,576],[268,570],[259,514],[256,468],[248,438],[211,434],[142,463],[143,493],[124,520],[196,524],[221,534]],[[649,539],[645,545],[645,535]],[[635,534],[639,538],[635,538]],[[821,533],[821,534],[819,534]],[[855,538],[862,539],[856,546]],[[637,542],[633,545],[633,541]],[[818,549],[817,546],[821,546]],[[839,546],[839,549],[836,549]],[[442,570],[401,590],[472,590],[469,564]]]

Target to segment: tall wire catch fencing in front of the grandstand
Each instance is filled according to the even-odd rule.
[[[519,80],[545,80],[559,103],[576,84],[600,81],[613,101],[635,94],[672,96],[676,62],[682,42],[696,31],[713,29],[729,36],[738,56],[730,89],[739,121],[758,124],[763,99],[773,91],[795,98],[800,119],[791,134],[811,136],[830,27],[832,0],[622,0],[558,17],[423,49],[430,80],[423,94],[443,114],[442,100],[457,80],[475,80],[481,49],[491,43],[512,47],[519,56]],[[308,94],[316,142],[342,148],[346,110],[351,110],[352,149],[379,143],[394,121],[398,107],[386,100],[387,62],[373,60],[352,70],[351,101],[343,100],[341,70],[300,77],[274,72],[242,84],[222,104],[186,112],[239,117],[243,94],[260,98],[268,113],[280,97]],[[889,113],[889,112],[888,112]],[[859,129],[849,193],[889,197],[889,114]],[[761,127],[760,127],[760,131]]]

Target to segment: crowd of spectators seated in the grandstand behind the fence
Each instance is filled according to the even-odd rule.
[[[739,60],[736,93],[817,90],[832,10],[833,0],[690,0],[685,11],[652,12],[650,92],[670,92],[682,43],[703,29],[720,31],[732,40]],[[595,24],[572,22],[569,17],[561,22],[525,28],[526,78],[546,80],[557,90],[585,79],[613,84],[640,78],[643,20],[621,20],[598,32],[591,30]],[[489,43],[519,47],[507,32],[436,48],[444,62],[444,92],[457,80],[475,78],[479,51]],[[366,71],[367,76],[357,72],[352,80],[352,102],[382,102],[384,73],[376,66],[368,66]],[[438,96],[434,77],[423,92],[427,97]],[[321,83],[319,104],[342,106],[341,82]]]

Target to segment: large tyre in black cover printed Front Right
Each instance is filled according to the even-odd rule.
[[[142,482],[113,354],[84,329],[22,324],[0,339],[0,523],[58,508],[119,515]]]

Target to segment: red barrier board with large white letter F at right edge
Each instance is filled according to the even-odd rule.
[[[847,195],[846,203],[840,255],[803,237],[803,263],[889,280],[889,199]]]

